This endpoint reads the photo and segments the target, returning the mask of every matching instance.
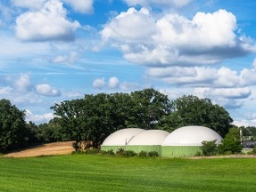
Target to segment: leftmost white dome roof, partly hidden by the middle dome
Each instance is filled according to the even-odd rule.
[[[140,128],[121,129],[117,132],[111,133],[111,135],[103,141],[102,146],[125,146],[129,140],[140,132],[145,132],[145,130]]]

